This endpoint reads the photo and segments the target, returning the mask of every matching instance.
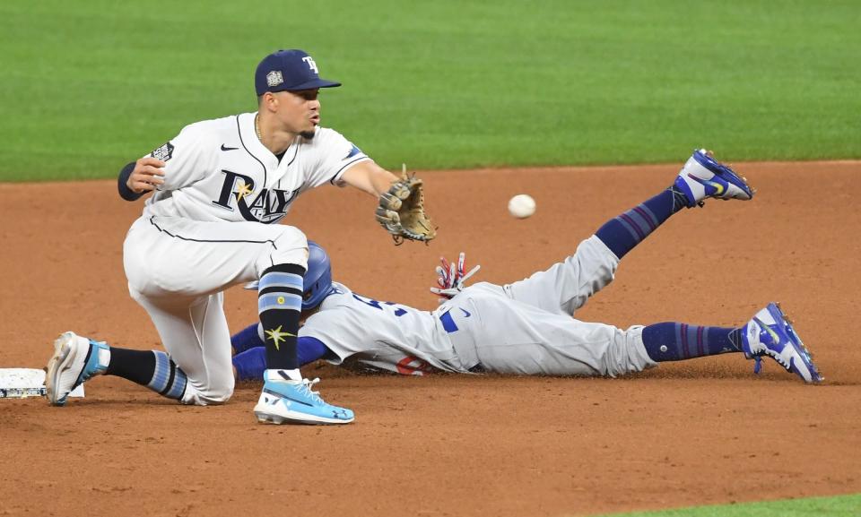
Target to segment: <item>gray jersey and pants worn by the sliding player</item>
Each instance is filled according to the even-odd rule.
[[[381,302],[334,283],[300,329],[333,364],[405,375],[498,372],[622,375],[657,363],[642,326],[622,330],[572,315],[613,280],[619,259],[598,237],[547,271],[504,286],[480,282],[432,312]]]

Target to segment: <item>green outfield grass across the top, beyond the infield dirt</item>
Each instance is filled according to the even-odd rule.
[[[302,47],[388,168],[861,157],[857,0],[0,3],[0,179],[113,177]]]

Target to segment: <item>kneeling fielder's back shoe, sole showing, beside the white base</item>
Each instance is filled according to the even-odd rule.
[[[93,375],[104,374],[110,361],[107,343],[88,340],[74,332],[63,332],[54,341],[54,355],[48,360],[45,387],[52,406],[65,406],[65,399]]]

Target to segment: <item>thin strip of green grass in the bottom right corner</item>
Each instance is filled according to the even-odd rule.
[[[663,512],[613,513],[605,517],[858,517],[861,495],[813,497],[773,503],[700,506]]]

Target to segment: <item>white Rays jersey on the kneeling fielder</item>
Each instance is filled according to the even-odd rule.
[[[147,200],[144,216],[272,224],[297,195],[341,185],[347,168],[367,155],[332,129],[297,136],[278,159],[257,139],[255,114],[187,125],[148,156],[166,162],[164,184]]]

